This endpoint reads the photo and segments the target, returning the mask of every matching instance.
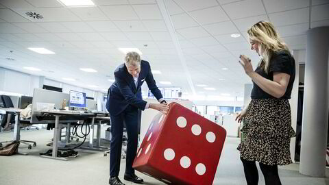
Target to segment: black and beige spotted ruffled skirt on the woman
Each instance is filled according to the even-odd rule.
[[[252,99],[243,121],[241,158],[267,165],[291,164],[291,127],[288,99]]]

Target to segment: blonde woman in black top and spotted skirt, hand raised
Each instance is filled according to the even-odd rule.
[[[262,59],[254,71],[249,58],[240,56],[239,62],[254,87],[252,101],[236,116],[238,122],[244,118],[244,139],[238,149],[248,185],[258,184],[256,161],[265,184],[281,184],[278,165],[292,163],[290,139],[295,132],[288,99],[295,79],[295,60],[271,23],[260,21],[248,34],[251,49]]]

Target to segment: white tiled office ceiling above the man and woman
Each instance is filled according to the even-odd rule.
[[[95,6],[67,8],[57,0],[0,0],[0,66],[60,82],[71,77],[77,79],[71,84],[93,84],[101,90],[110,86],[108,79],[123,62],[117,48],[137,47],[151,69],[162,72],[154,75],[157,82],[169,81],[172,84],[166,86],[182,87],[190,95],[240,96],[243,84],[251,81],[238,56],[249,56],[254,66],[259,60],[249,49],[246,33],[254,23],[271,21],[290,49],[306,48],[309,25],[329,25],[329,0],[313,0],[311,8],[309,0],[93,2]],[[25,12],[43,18],[30,18]],[[230,37],[236,33],[241,37]],[[56,54],[41,55],[27,47],[45,47]],[[24,66],[42,71],[26,71]]]

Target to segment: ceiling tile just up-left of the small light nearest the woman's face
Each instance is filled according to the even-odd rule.
[[[239,33],[231,21],[204,25],[204,28],[212,35]]]

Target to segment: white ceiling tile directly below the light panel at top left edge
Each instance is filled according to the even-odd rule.
[[[74,7],[69,8],[74,14],[79,16],[82,21],[106,21],[108,17],[106,17],[103,12],[97,7]]]

